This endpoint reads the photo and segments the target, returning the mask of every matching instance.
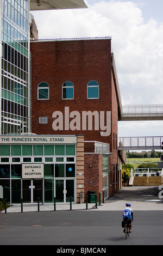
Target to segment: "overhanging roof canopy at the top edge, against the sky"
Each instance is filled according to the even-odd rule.
[[[30,10],[87,8],[84,0],[30,0]]]

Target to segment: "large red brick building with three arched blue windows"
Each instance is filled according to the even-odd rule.
[[[121,188],[123,161],[117,148],[122,106],[111,39],[35,40],[30,51],[32,132],[79,135],[75,202],[80,192],[84,198],[89,191],[111,196]]]

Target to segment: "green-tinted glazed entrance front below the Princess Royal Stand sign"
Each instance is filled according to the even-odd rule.
[[[76,145],[1,145],[0,186],[11,204],[75,202]],[[43,164],[43,178],[23,179],[23,165]],[[30,164],[31,163],[31,164]],[[34,167],[33,167],[34,168]]]

